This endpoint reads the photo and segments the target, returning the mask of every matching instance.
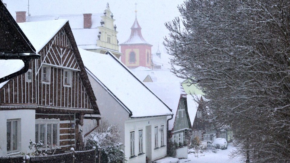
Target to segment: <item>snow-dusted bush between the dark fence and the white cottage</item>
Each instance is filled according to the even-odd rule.
[[[97,129],[86,139],[85,149],[94,146],[101,151],[101,162],[122,162],[125,160],[123,144],[118,142],[120,132],[118,126],[108,126],[106,130]]]

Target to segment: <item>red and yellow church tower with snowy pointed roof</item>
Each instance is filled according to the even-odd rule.
[[[121,61],[130,69],[139,66],[152,69],[152,54],[151,47],[142,36],[141,27],[137,21],[137,10],[135,10],[136,17],[131,27],[131,35],[127,41],[121,43]]]

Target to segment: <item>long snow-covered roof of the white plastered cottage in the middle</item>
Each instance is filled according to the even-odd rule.
[[[85,67],[132,112],[131,117],[172,115],[169,107],[111,53],[79,48]]]

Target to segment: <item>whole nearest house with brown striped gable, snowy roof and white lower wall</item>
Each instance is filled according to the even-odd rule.
[[[30,140],[43,142],[43,148],[76,148],[84,116],[100,113],[69,23],[18,25],[41,57],[32,60],[25,74],[0,85],[0,155],[31,152]]]

